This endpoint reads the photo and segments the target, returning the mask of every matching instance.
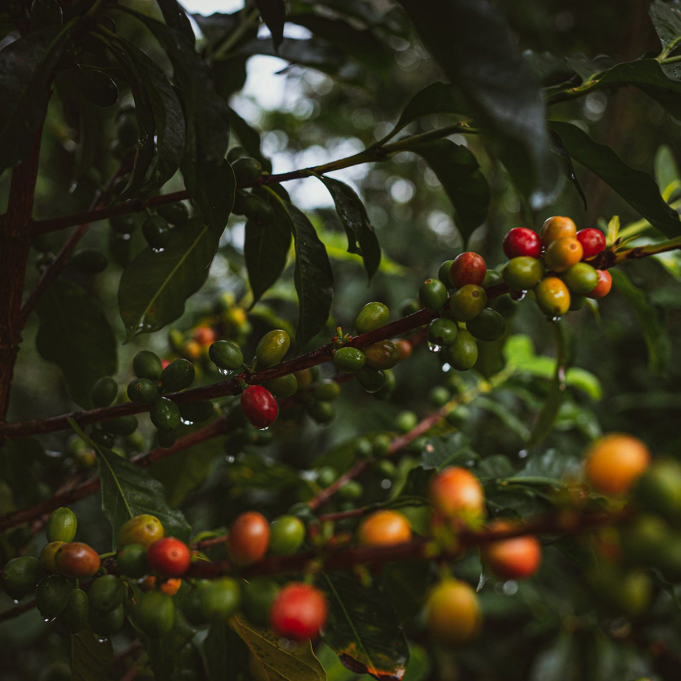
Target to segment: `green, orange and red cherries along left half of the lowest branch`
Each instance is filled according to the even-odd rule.
[[[197,552],[180,539],[166,537],[155,516],[136,516],[123,524],[118,551],[104,562],[91,546],[73,541],[76,529],[74,513],[57,509],[46,524],[49,543],[40,557],[12,558],[3,569],[8,594],[20,599],[36,589],[35,604],[43,618],[59,618],[70,633],[89,628],[107,637],[121,629],[128,616],[145,635],[157,637],[172,629],[177,608],[197,627],[227,622],[243,612],[254,624],[271,627],[292,641],[316,637],[326,622],[326,597],[309,584],[281,586],[264,577],[183,579]],[[238,571],[266,554],[296,553],[304,537],[305,526],[296,516],[270,523],[260,513],[247,511],[229,528],[227,553]]]

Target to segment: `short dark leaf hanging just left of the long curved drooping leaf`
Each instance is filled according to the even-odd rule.
[[[244,256],[254,303],[279,279],[291,246],[291,220],[285,204],[271,189],[256,193],[268,200],[273,215],[267,225],[246,223]]]

